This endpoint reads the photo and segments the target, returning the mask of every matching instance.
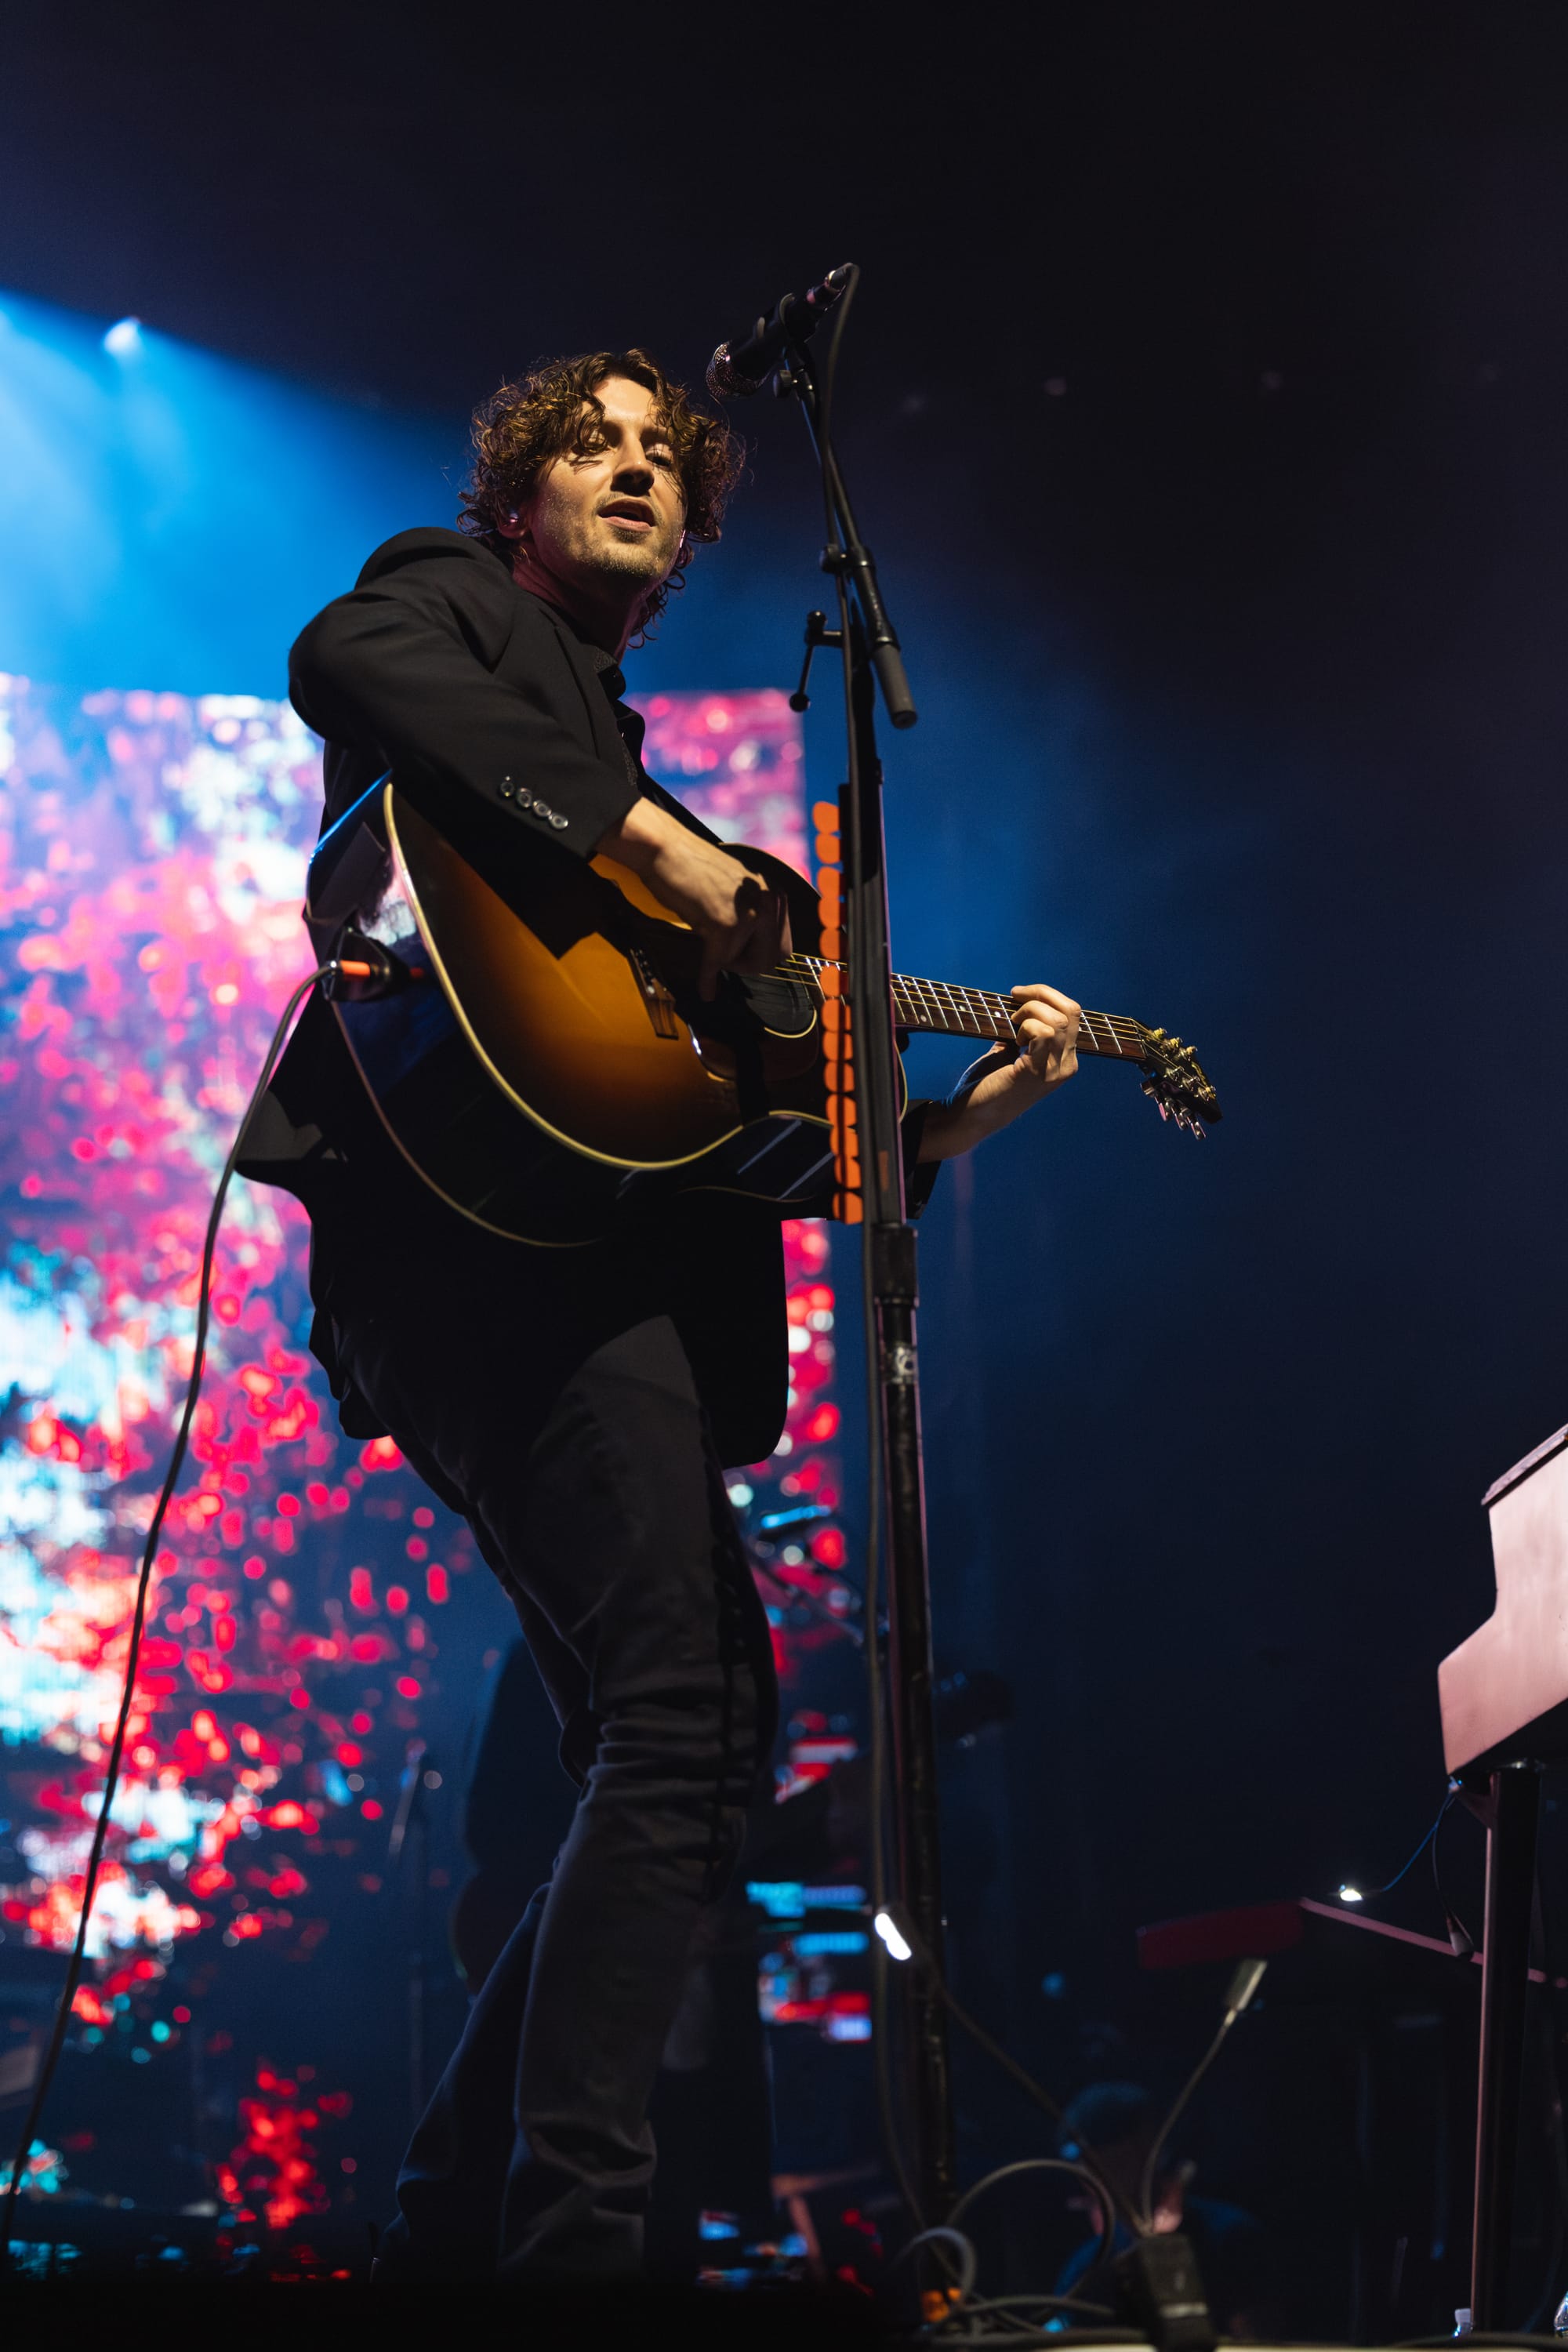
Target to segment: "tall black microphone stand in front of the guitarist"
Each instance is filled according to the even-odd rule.
[[[832,374],[858,270],[832,320],[823,372],[806,336],[804,313],[790,334],[776,390],[795,397],[823,470],[827,546],[823,572],[837,590],[839,626],[820,614],[806,623],[806,668],[792,699],[806,701],[816,647],[837,647],[844,661],[846,786],[839,795],[844,837],[846,960],[853,1040],[853,1103],[860,1136],[860,1185],[867,1249],[867,1348],[875,1350],[877,1428],[870,1444],[882,1461],[886,1496],[886,1623],[893,1748],[893,1865],[898,1900],[917,1931],[922,1962],[900,1971],[905,2077],[914,2124],[919,2218],[940,2223],[954,2197],[952,2079],[943,1983],[943,1867],[936,1788],[936,1715],[931,1661],[931,1576],[926,1562],[926,1489],[919,1432],[919,1367],[914,1345],[917,1242],[905,1211],[903,1136],[898,1120],[898,1044],[893,1037],[893,967],[882,826],[882,760],[877,755],[877,687],[893,727],[914,724],[914,699],[889,621],[872,553],[856,527],[844,470],[832,447]],[[785,313],[785,329],[790,318]],[[875,1529],[870,1531],[875,1541]],[[875,1623],[867,1639],[877,1642]],[[872,1738],[882,1726],[872,1726]],[[882,1823],[872,1823],[882,1837]]]

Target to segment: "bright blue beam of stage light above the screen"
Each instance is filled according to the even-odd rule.
[[[277,696],[369,550],[454,520],[461,416],[371,416],[12,287],[0,306],[5,673]]]

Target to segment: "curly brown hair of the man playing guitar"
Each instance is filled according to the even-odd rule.
[[[686,536],[670,579],[642,607],[639,628],[646,630],[670,602],[670,590],[684,586],[682,572],[693,543],[719,536],[745,456],[729,426],[693,407],[686,386],[672,383],[646,350],[585,350],[576,360],[541,360],[517,383],[491,393],[473,414],[475,461],[461,496],[458,529],[510,560],[501,522],[531,499],[557,456],[578,447],[588,419],[604,414],[595,395],[609,376],[628,376],[654,395],[686,496]]]

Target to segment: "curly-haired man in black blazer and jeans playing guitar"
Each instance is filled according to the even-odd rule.
[[[496,393],[475,452],[461,532],[388,541],[294,647],[327,823],[390,767],[480,873],[604,851],[698,934],[705,990],[769,969],[780,898],[644,776],[621,701],[628,642],[719,536],[738,445],[646,353],[602,350]],[[905,1117],[914,1200],[1077,1068],[1077,1004],[1013,997],[1018,1051]],[[244,1167],[310,1211],[343,1428],[390,1432],[470,1522],[581,1788],[414,2131],[386,2274],[635,2270],[654,2074],[771,1762],[769,1632],[722,1463],[762,1461],[783,1423],[778,1221],[686,1195],[588,1249],[503,1240],[409,1171],[320,997],[252,1141]]]

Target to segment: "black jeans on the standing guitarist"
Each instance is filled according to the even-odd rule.
[[[388,1265],[336,1235],[317,1289],[355,1388],[515,1602],[581,1799],[414,2131],[383,2253],[430,2277],[623,2272],[701,1907],[771,1757],[771,1639],[670,1315],[442,1237]]]

